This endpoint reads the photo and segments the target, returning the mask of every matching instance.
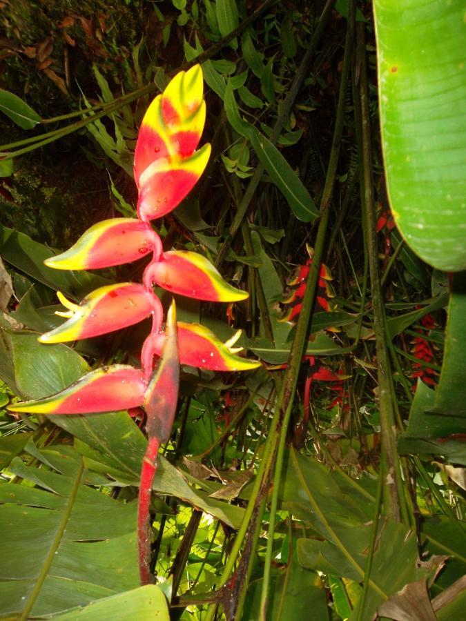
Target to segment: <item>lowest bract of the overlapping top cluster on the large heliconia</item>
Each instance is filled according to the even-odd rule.
[[[210,144],[204,144],[188,157],[169,155],[153,161],[139,177],[138,217],[160,218],[179,205],[204,172],[210,155]]]

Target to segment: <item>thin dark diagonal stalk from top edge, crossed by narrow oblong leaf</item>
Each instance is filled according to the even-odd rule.
[[[298,70],[295,73],[295,77],[293,79],[293,83],[291,84],[291,88],[288,92],[287,97],[284,100],[282,110],[280,112],[280,115],[278,116],[277,122],[275,123],[275,126],[273,127],[273,132],[270,138],[273,144],[275,144],[275,142],[277,141],[278,137],[280,136],[280,132],[282,131],[284,127],[284,124],[289,118],[291,108],[293,107],[293,103],[295,102],[296,97],[298,97],[298,92],[300,92],[300,88],[302,86],[304,78],[307,76],[309,65],[313,58],[315,49],[317,48],[318,43],[320,42],[320,38],[322,37],[324,28],[325,26],[327,26],[327,21],[329,20],[331,16],[334,3],[335,3],[335,0],[327,0],[327,2],[325,3],[324,9],[322,10],[322,14],[320,15],[318,26],[317,28],[315,28],[315,31],[313,32],[311,41],[309,41],[309,47],[307,48],[307,51],[304,54],[304,57],[302,58],[300,66],[298,67]],[[251,200],[255,194],[255,190],[258,188],[263,172],[264,172],[264,167],[262,166],[262,164],[258,164],[258,166],[255,168],[254,175],[251,177],[251,181],[249,181],[249,185],[246,188],[246,192],[244,193],[242,201],[237,208],[235,217],[233,217],[233,222],[231,223],[231,226],[229,228],[229,233],[226,239],[224,240],[222,246],[220,246],[217,259],[215,260],[215,266],[217,268],[222,263],[226,253],[229,250],[229,247],[231,246],[231,242],[233,241],[233,238],[235,237],[237,231],[239,230],[241,226],[242,220],[244,216],[246,215],[246,212],[249,208],[249,204],[251,203]]]

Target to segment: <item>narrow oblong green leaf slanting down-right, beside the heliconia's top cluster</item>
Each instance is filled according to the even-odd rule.
[[[251,127],[249,132],[251,145],[260,163],[269,173],[273,183],[279,188],[294,215],[303,222],[310,222],[318,217],[319,212],[311,195],[304,188],[301,179],[284,159],[278,148],[266,139],[258,130]]]

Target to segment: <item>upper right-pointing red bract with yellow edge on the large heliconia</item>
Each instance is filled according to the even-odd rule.
[[[208,302],[237,302],[248,293],[229,285],[205,257],[188,250],[170,250],[144,272],[144,284]]]

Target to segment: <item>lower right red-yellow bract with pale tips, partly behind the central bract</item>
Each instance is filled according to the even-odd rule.
[[[200,324],[177,322],[180,364],[188,364],[210,371],[249,371],[260,366],[259,360],[242,358],[236,354],[242,347],[233,347],[240,338],[241,331],[222,343],[215,334]],[[142,363],[150,366],[153,355],[161,355],[165,335],[163,332],[150,335],[142,350]]]

